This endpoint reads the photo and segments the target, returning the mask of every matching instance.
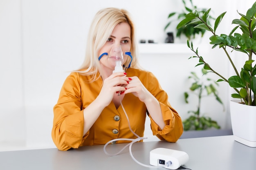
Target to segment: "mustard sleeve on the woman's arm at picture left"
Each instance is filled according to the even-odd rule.
[[[52,139],[59,150],[78,148],[83,142],[84,118],[81,105],[79,76],[71,73],[54,106]]]

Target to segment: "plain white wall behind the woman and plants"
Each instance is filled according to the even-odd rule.
[[[194,0],[198,7],[211,7],[216,17],[224,11],[231,11],[222,21],[223,31],[230,30],[231,18],[238,17],[236,9],[243,13],[253,2],[248,0],[247,7],[241,9],[242,2],[239,0]],[[153,39],[162,43],[166,38],[163,29],[168,13],[177,11],[181,5],[181,0],[0,0],[2,148],[10,142],[25,144],[29,148],[54,147],[50,135],[52,108],[69,71],[83,62],[88,29],[99,9],[127,9],[135,20],[138,40]],[[229,23],[225,24],[225,21]],[[173,31],[174,27],[171,26],[169,31]],[[175,42],[180,40],[175,39]],[[204,38],[201,44],[208,42],[208,38]],[[224,71],[225,75],[229,74],[227,60],[216,60],[216,56],[223,53],[216,50],[213,53],[210,47],[203,51],[209,60],[216,61],[217,69]],[[187,77],[191,71],[198,71],[194,68],[196,61],[187,60],[188,57],[185,53],[140,56],[141,65],[159,78],[170,103],[183,119],[191,110],[191,105],[185,104],[182,98],[190,85]],[[226,111],[222,112],[222,107],[211,99],[204,103],[207,106],[203,110],[222,128],[230,128],[227,84],[220,84],[219,91]],[[148,129],[145,135],[151,135]]]

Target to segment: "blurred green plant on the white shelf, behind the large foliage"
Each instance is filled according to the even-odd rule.
[[[182,0],[183,4],[184,4],[184,11],[182,11],[181,13],[177,13],[177,12],[172,12],[168,15],[168,19],[172,18],[173,16],[175,16],[177,14],[177,20],[182,20],[185,18],[186,13],[191,12],[193,10],[197,10],[199,11],[199,14],[203,14],[206,9],[198,9],[192,2],[192,0],[190,1],[190,5],[186,4],[186,0]],[[211,16],[209,16],[211,18]],[[166,26],[164,27],[164,31],[166,31],[166,29],[170,26],[172,21],[169,21]],[[210,24],[210,23],[208,23]],[[205,29],[201,29],[201,28],[194,28],[194,26],[196,26],[196,24],[193,24],[193,21],[191,21],[190,24],[183,26],[179,29],[177,29],[177,33],[176,36],[180,38],[181,35],[185,35],[186,38],[190,39],[194,39],[196,34],[200,34],[201,36],[204,35],[205,33]]]

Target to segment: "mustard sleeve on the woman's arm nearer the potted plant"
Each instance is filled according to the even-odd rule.
[[[149,73],[148,75],[149,86],[148,90],[158,100],[164,123],[166,126],[161,130],[155,121],[150,117],[151,130],[153,135],[156,135],[160,140],[166,140],[168,142],[176,142],[183,133],[182,119],[175,109],[172,108],[168,102],[167,93],[161,88],[157,78]]]

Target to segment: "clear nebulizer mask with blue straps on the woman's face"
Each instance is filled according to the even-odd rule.
[[[108,56],[108,64],[110,66],[112,66],[113,68],[115,67],[115,69],[113,70],[113,73],[125,72],[127,68],[130,68],[130,65],[132,62],[132,55],[130,52],[123,53],[121,45],[112,46],[110,53],[109,54],[108,53],[101,54],[99,56],[99,60],[101,59],[101,57],[103,57],[103,55],[107,55]],[[129,64],[127,64],[127,66],[122,65],[122,63],[124,62],[124,55],[129,56],[129,58],[126,60],[126,63],[129,63]]]

